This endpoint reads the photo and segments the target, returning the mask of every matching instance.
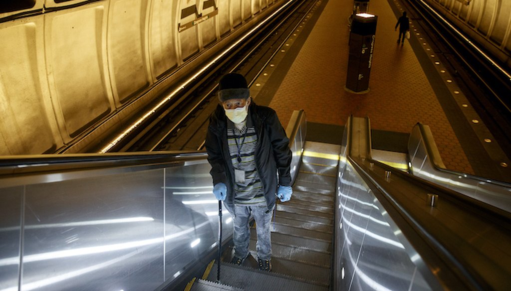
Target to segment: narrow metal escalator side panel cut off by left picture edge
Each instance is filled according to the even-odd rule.
[[[0,188],[0,290],[18,286],[23,187]]]

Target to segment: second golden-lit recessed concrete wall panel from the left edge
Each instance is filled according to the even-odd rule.
[[[71,137],[111,110],[101,50],[103,13],[91,7],[47,18],[50,87]]]

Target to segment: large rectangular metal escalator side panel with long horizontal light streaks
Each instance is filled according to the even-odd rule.
[[[162,170],[27,186],[22,289],[163,282]]]

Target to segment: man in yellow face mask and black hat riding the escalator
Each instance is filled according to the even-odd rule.
[[[210,117],[205,147],[212,166],[213,193],[234,219],[231,263],[241,265],[249,255],[252,215],[259,269],[271,271],[275,197],[285,202],[293,193],[289,139],[276,112],[252,101],[242,75],[223,76],[217,95],[220,104]]]

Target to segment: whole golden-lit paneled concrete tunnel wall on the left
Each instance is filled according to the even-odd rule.
[[[98,148],[95,140],[122,130],[140,108],[237,37],[234,28],[241,33],[248,29],[242,23],[252,26],[244,20],[261,1],[272,3],[255,1],[0,5],[0,155]]]

